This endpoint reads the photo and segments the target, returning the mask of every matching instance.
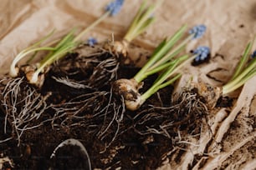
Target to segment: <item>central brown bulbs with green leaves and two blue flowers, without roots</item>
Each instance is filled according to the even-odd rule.
[[[142,4],[141,10],[145,5]],[[139,14],[141,13],[139,11]],[[139,18],[135,19],[135,23]],[[136,28],[134,24],[131,28]],[[116,94],[121,95],[125,100],[125,107],[129,110],[138,109],[148,97],[157,92],[163,87],[169,86],[172,82],[175,82],[179,77],[182,76],[179,73],[180,69],[186,65],[188,62],[192,62],[196,57],[206,57],[209,53],[207,47],[201,47],[200,50],[194,52],[192,57],[184,55],[182,57],[177,57],[177,55],[182,52],[188,41],[202,37],[203,33],[206,31],[204,25],[199,25],[192,28],[185,40],[183,40],[179,45],[174,47],[174,45],[182,38],[187,26],[184,25],[182,28],[177,30],[177,32],[170,38],[164,39],[156,50],[152,53],[151,58],[146,62],[146,64],[141,68],[139,72],[136,73],[135,77],[131,79],[120,79],[114,82],[113,89]],[[151,74],[161,72],[159,77],[153,85],[144,93],[140,94],[139,89],[142,87],[141,83],[146,77]]]

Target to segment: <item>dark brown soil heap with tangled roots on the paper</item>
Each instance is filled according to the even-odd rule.
[[[139,110],[126,111],[120,97],[112,93],[111,83],[121,77],[133,77],[138,68],[120,63],[120,57],[110,52],[81,56],[74,52],[56,63],[47,74],[44,87],[37,89],[41,95],[49,96],[49,107],[34,122],[44,122],[41,126],[24,131],[20,143],[10,125],[12,119],[8,119],[8,132],[0,131],[0,139],[13,138],[0,144],[0,153],[13,160],[14,169],[87,168],[84,157],[74,147],[62,148],[59,157],[50,159],[54,148],[68,138],[83,143],[92,168],[155,169],[174,147],[181,148],[177,153],[182,155],[182,148],[187,145],[178,142],[200,133],[207,111],[197,94],[184,92],[172,101],[172,87],[166,87]],[[141,91],[155,79],[156,75],[148,77]],[[0,90],[3,92],[3,87]],[[3,129],[6,113],[1,108]],[[4,164],[4,168],[10,167]]]

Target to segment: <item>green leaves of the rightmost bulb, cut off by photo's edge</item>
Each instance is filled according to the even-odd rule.
[[[255,39],[253,42],[255,42]],[[223,95],[235,91],[238,87],[243,86],[245,82],[256,75],[256,57],[249,60],[249,53],[252,50],[253,42],[248,42],[248,45],[243,52],[243,57],[238,63],[238,67],[233,74],[233,77],[223,86]]]

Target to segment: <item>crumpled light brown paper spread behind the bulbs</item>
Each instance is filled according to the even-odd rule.
[[[70,28],[89,26],[104,13],[108,2],[110,0],[2,0],[0,72],[2,74],[8,72],[8,67],[18,52],[53,29],[58,37],[69,32]],[[85,35],[84,40],[88,37],[96,37],[99,41],[105,41],[110,39],[112,34],[116,40],[120,39],[136,15],[135,12],[141,2],[142,0],[126,0],[117,16],[105,19]],[[256,34],[256,2],[253,0],[235,2],[233,0],[168,0],[163,2],[155,15],[156,23],[133,43],[151,52],[164,37],[171,36],[182,24],[187,23],[188,28],[200,23],[205,24],[206,35],[190,42],[187,45],[187,52],[199,44],[209,46],[212,59],[202,66],[187,67],[187,72],[192,72],[203,82],[217,86],[228,81],[246,44]],[[224,57],[219,57],[217,54]],[[135,57],[135,60],[138,57],[131,56]],[[223,69],[218,71],[218,68]],[[220,82],[207,77],[209,72]],[[253,78],[248,83],[255,85],[256,79]],[[253,93],[255,96],[256,92]],[[241,95],[247,94],[242,92]],[[253,104],[251,108],[255,110]]]

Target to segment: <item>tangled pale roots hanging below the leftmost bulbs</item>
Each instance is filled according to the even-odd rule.
[[[13,133],[17,135],[19,145],[25,131],[38,128],[44,122],[49,121],[37,122],[48,106],[43,96],[33,87],[25,85],[27,82],[23,80],[23,77],[3,79],[0,83],[4,86],[1,92],[1,102],[3,102],[6,114],[4,133],[7,132],[9,123],[13,128]]]

